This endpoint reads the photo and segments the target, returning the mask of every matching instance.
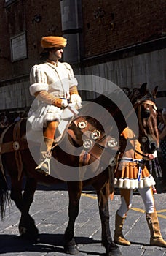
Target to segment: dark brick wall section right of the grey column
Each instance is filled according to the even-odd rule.
[[[164,0],[83,0],[85,56],[162,37],[165,7]]]

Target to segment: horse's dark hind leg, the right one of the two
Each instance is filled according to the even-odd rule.
[[[31,203],[33,202],[34,192],[36,190],[36,179],[26,178],[25,189],[23,192],[23,207],[19,223],[19,232],[23,238],[36,240],[39,230],[36,228],[34,219],[29,214]]]

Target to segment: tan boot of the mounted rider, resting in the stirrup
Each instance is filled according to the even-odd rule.
[[[40,147],[40,164],[36,167],[39,173],[50,174],[51,148],[54,140],[44,137]]]

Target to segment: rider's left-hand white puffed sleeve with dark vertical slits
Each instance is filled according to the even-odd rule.
[[[42,71],[41,65],[34,65],[31,68],[30,83],[29,90],[32,96],[35,96],[35,93],[38,91],[48,91],[47,78]]]

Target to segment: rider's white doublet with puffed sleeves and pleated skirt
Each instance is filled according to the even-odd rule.
[[[38,91],[47,91],[55,97],[66,99],[70,99],[70,88],[78,84],[71,66],[59,61],[57,65],[50,62],[34,65],[30,72],[30,83],[32,96]],[[28,120],[33,130],[39,130],[47,127],[47,121],[60,121],[63,110],[55,105],[39,102],[39,108],[31,112],[33,113]]]

